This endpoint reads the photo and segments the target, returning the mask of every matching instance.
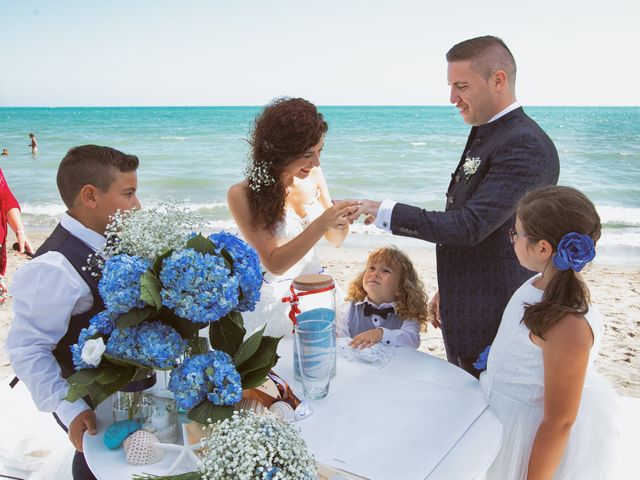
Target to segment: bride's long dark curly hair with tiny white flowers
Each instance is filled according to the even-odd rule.
[[[254,228],[274,231],[284,220],[287,188],[284,168],[316,145],[329,126],[314,104],[302,98],[278,98],[256,117],[250,133],[247,167],[249,206]]]

